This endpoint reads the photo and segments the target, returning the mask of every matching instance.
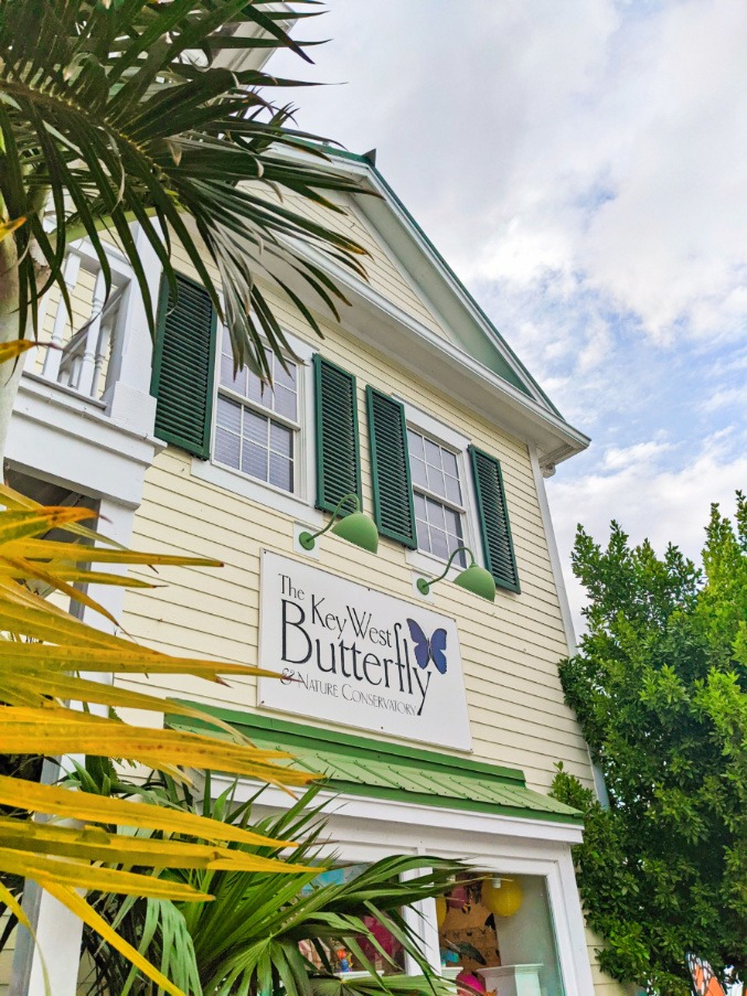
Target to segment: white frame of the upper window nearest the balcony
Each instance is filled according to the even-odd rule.
[[[285,491],[277,488],[268,481],[260,481],[249,474],[244,473],[225,463],[221,463],[214,458],[215,451],[215,427],[217,424],[217,398],[218,393],[223,393],[225,397],[231,398],[245,407],[253,407],[252,401],[246,401],[243,396],[234,393],[231,388],[221,386],[221,353],[220,343],[224,334],[224,325],[218,322],[217,335],[218,347],[215,352],[215,370],[213,376],[213,418],[210,428],[210,459],[200,460],[192,459],[192,476],[202,481],[207,481],[234,494],[242,495],[265,505],[273,511],[280,512],[294,518],[300,518],[310,526],[317,527],[322,523],[322,515],[313,507],[314,504],[314,486],[316,486],[316,443],[314,443],[314,410],[313,410],[313,368],[311,360],[314,350],[301,339],[297,339],[284,329],[288,345],[296,354],[295,357],[288,356],[297,365],[297,388],[298,388],[298,416],[297,428],[294,436],[294,491]],[[256,406],[256,410],[262,415],[267,415],[270,419],[276,414],[262,405]],[[285,424],[287,419],[279,416],[277,420]]]

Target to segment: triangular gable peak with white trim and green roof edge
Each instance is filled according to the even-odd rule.
[[[519,438],[534,443],[546,470],[585,449],[587,437],[565,421],[386,183],[372,157],[327,147],[323,151],[329,157],[327,163],[314,156],[314,167],[355,179],[362,193],[335,196],[346,211],[344,215],[301,199],[292,206],[300,213],[311,213],[316,222],[363,245],[371,253],[364,260],[369,281],[351,276],[343,267],[330,265],[322,254],[296,248],[310,251],[354,303],[365,304],[366,298],[375,299],[380,311],[365,331],[376,335],[384,349],[398,352],[402,345],[394,345],[398,314],[399,335],[402,325],[421,333],[418,345],[428,352],[426,365],[431,371],[436,365],[439,370],[449,365],[448,383],[455,396],[461,389],[462,397],[476,410],[482,410]],[[284,150],[284,154],[306,158],[300,150]],[[386,321],[392,323],[388,340]],[[426,361],[425,353],[421,358]]]

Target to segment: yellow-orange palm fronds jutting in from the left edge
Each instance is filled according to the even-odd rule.
[[[24,879],[34,880],[92,930],[99,931],[140,972],[180,996],[173,981],[117,935],[76,889],[148,897],[153,901],[209,902],[211,896],[189,880],[160,872],[164,868],[205,872],[241,869],[243,874],[295,877],[311,871],[302,863],[289,865],[281,859],[291,846],[288,838],[258,834],[171,806],[26,781],[19,759],[114,754],[158,768],[180,781],[188,778],[184,768],[217,768],[284,786],[303,785],[310,775],[295,770],[287,754],[255,748],[226,724],[216,725],[223,733],[217,738],[129,726],[114,714],[92,713],[87,708],[90,704],[162,711],[163,703],[145,693],[82,678],[76,674],[78,670],[141,675],[160,671],[211,681],[223,681],[222,675],[226,674],[250,674],[254,670],[238,664],[170,658],[140,647],[73,618],[29,590],[25,583],[43,577],[52,588],[79,597],[71,588],[71,564],[96,564],[100,558],[119,565],[181,561],[204,567],[218,561],[162,558],[116,549],[110,544],[93,547],[45,540],[40,537],[51,528],[71,531],[76,538],[98,542],[100,537],[81,523],[90,515],[87,510],[44,507],[4,486],[0,505],[0,634],[4,631],[4,639],[0,639],[0,757],[8,758],[15,769],[13,773],[0,774],[0,898],[10,911],[11,922],[23,923],[17,897]],[[86,576],[96,577],[98,583],[121,580],[116,575],[107,577],[83,567],[73,572],[77,581],[86,580]],[[96,608],[90,599],[84,599],[84,603]],[[71,700],[83,708],[71,708]],[[40,814],[53,818],[36,822]],[[75,823],[63,826],[58,820]],[[125,828],[135,828],[136,834]],[[179,836],[171,836],[174,834]],[[239,849],[239,845],[249,850]]]

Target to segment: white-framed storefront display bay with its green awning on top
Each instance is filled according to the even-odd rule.
[[[570,858],[581,839],[575,811],[527,789],[516,770],[214,711],[259,747],[326,773],[330,854],[346,866],[332,874],[354,875],[394,854],[420,854],[424,867],[429,855],[465,861],[471,871],[446,899],[428,900],[408,918],[434,967],[497,996],[593,996]],[[213,778],[214,792],[225,786]],[[243,797],[256,791],[241,786],[237,799],[242,789]],[[257,812],[288,805],[284,792],[267,789]],[[341,973],[356,971],[345,952],[339,961]],[[415,973],[407,961],[382,971]]]

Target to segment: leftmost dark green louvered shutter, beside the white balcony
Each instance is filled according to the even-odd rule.
[[[216,318],[204,287],[177,277],[174,301],[161,282],[150,393],[159,439],[206,460],[213,413]]]

